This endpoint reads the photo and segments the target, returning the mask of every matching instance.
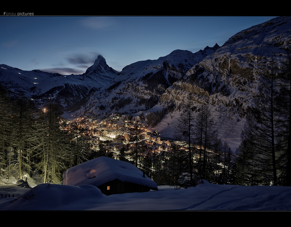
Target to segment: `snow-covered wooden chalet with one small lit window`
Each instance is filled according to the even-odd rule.
[[[105,195],[157,190],[140,169],[120,160],[98,157],[64,172],[64,185],[94,185]]]

